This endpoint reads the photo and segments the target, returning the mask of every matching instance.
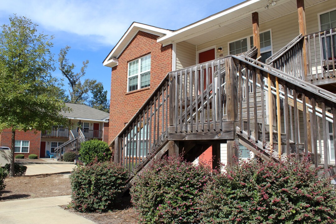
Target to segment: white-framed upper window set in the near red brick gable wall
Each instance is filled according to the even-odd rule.
[[[151,55],[128,62],[127,92],[150,86]]]

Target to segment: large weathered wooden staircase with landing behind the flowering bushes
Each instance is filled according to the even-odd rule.
[[[129,186],[155,158],[182,153],[194,161],[212,145],[218,159],[221,143],[228,165],[240,143],[265,161],[308,153],[318,161],[320,154],[323,164],[313,166],[333,167],[326,176],[334,172],[329,145],[321,142],[329,142],[330,124],[336,141],[336,95],[253,59],[255,53],[167,74],[112,142],[114,161],[129,171]]]

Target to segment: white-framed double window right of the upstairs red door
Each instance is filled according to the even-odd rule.
[[[272,34],[271,30],[259,34],[261,62],[265,62],[272,55]],[[241,54],[253,48],[253,36],[228,43],[229,54]]]

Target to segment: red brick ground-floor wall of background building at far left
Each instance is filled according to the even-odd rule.
[[[11,148],[11,139],[12,139],[12,132],[10,129],[4,129],[1,132],[0,138],[0,146],[6,146]],[[40,157],[40,144],[41,144],[41,132],[37,131],[36,134],[34,131],[16,131],[15,132],[15,140],[28,140],[29,141],[29,152],[28,153],[14,153],[23,154],[25,158],[28,158],[30,154],[36,154]]]

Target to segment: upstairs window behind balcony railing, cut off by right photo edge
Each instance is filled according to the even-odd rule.
[[[336,9],[330,10],[328,12],[323,12],[318,15],[319,19],[319,26],[320,31],[330,30],[331,28],[336,27]],[[327,48],[326,48],[326,40],[327,39]],[[336,34],[328,34],[326,38],[323,36],[321,38],[321,44],[322,44],[322,52],[323,52],[323,60],[326,60],[326,55],[328,54],[328,58],[332,58],[332,47],[331,47],[331,41],[333,42],[333,51],[334,51],[334,57],[336,56]]]

